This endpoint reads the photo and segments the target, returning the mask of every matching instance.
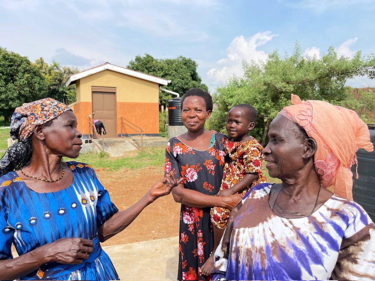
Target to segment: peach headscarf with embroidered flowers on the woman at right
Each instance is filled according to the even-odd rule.
[[[353,200],[350,167],[357,162],[356,151],[374,150],[368,127],[356,112],[347,108],[321,100],[304,102],[293,94],[291,103],[278,115],[299,124],[317,142],[314,164],[320,184],[325,188],[334,185],[337,196]]]

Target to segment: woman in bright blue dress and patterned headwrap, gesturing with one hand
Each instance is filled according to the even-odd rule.
[[[62,161],[78,157],[82,134],[71,109],[50,98],[17,108],[10,135],[18,142],[0,161],[1,279],[118,280],[100,242],[179,182],[167,174],[119,212],[89,164]]]

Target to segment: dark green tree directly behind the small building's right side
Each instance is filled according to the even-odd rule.
[[[143,57],[137,55],[127,66],[132,70],[171,80],[171,83],[163,88],[179,93],[180,96],[183,96],[191,88],[208,91],[207,85],[202,84],[202,79],[196,72],[197,67],[198,64],[191,58],[178,56],[177,58],[157,59],[149,54],[145,54]],[[162,111],[162,107],[165,109],[168,99],[173,97],[171,94],[159,90],[159,111]]]

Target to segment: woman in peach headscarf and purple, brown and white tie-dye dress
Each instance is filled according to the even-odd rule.
[[[375,225],[351,200],[355,153],[373,150],[368,128],[346,108],[294,95],[292,103],[263,149],[282,183],[254,186],[233,209],[213,279],[374,280]]]

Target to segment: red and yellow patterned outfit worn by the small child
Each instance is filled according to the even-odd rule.
[[[233,187],[247,173],[258,173],[258,178],[238,194],[245,195],[253,186],[267,182],[266,176],[262,173],[263,146],[255,138],[246,142],[235,142],[228,139],[224,142],[224,148],[230,160],[224,166],[220,191]],[[217,228],[225,229],[230,213],[231,211],[226,208],[211,208],[212,224]]]

